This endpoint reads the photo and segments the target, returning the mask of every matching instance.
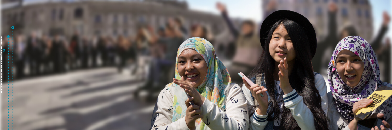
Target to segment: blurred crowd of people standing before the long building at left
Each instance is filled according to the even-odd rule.
[[[182,19],[176,17],[156,29],[141,23],[136,36],[84,36],[75,31],[67,38],[60,32],[33,31],[28,36],[16,32],[14,46],[4,46],[10,52],[4,58],[11,58],[11,52],[15,52],[16,78],[105,66],[116,66],[122,72],[131,66],[132,75],[157,81],[160,72],[167,75],[165,66],[173,66],[178,46],[189,37],[207,39],[207,28],[201,24],[186,28]],[[174,72],[174,68],[171,70]]]

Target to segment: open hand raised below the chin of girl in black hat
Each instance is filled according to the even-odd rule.
[[[282,89],[283,93],[288,94],[293,91],[290,82],[289,82],[289,64],[287,64],[287,59],[283,59],[280,61],[279,65],[279,86]]]

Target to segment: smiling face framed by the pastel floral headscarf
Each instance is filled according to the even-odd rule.
[[[191,48],[183,50],[177,59],[177,69],[180,77],[184,77],[185,82],[198,87],[207,75],[207,62],[200,53]]]

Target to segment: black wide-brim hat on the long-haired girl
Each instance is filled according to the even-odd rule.
[[[308,36],[309,39],[309,45],[310,45],[310,50],[312,51],[312,58],[314,57],[314,54],[316,54],[316,49],[317,49],[317,38],[316,38],[316,31],[314,31],[312,23],[303,15],[299,14],[298,12],[294,11],[288,11],[288,10],[279,10],[275,11],[261,24],[260,28],[260,43],[261,47],[264,48],[265,45],[265,39],[267,39],[268,32],[270,28],[279,20],[281,19],[288,19],[295,21],[299,25],[305,28],[305,32]]]

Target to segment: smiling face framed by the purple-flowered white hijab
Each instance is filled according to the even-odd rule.
[[[340,78],[350,87],[355,87],[361,80],[365,64],[358,55],[342,50],[336,58],[336,70]]]

